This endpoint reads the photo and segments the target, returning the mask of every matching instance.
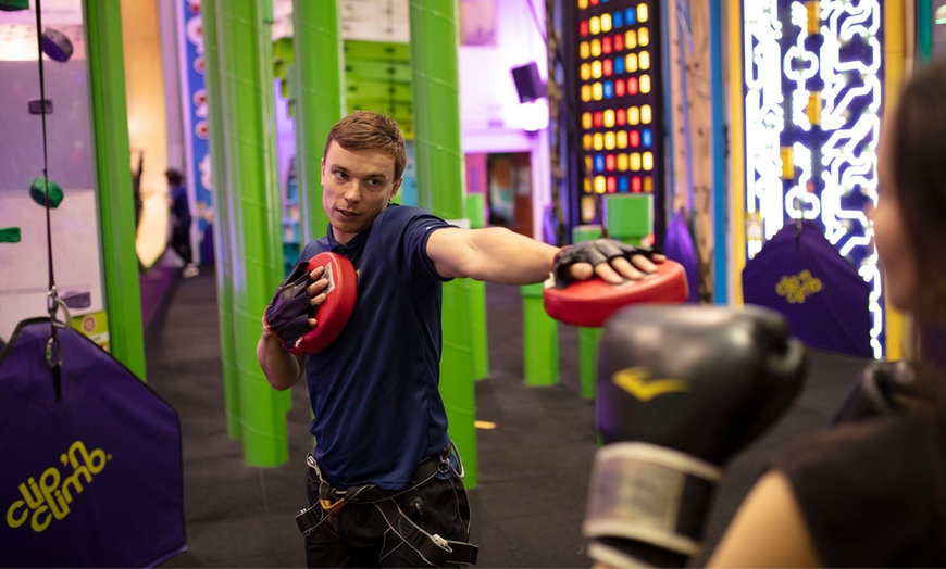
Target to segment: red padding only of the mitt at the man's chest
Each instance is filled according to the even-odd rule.
[[[341,255],[335,253],[319,253],[309,260],[308,270],[325,266],[323,277],[328,279],[325,289],[325,302],[315,311],[315,328],[302,337],[296,347],[289,350],[294,354],[318,354],[331,344],[348,324],[354,301],[358,299],[357,276],[354,265]]]

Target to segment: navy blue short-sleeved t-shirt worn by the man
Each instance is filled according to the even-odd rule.
[[[306,366],[314,457],[335,486],[400,490],[449,442],[438,389],[444,279],[426,253],[444,227],[423,210],[389,205],[348,243],[328,231],[302,250],[300,261],[345,255],[358,273],[351,318]]]

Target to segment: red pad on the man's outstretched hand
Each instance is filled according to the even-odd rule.
[[[638,280],[608,284],[595,277],[572,282],[563,289],[552,279],[543,289],[545,312],[574,326],[600,327],[618,309],[628,304],[682,303],[689,296],[686,271],[680,263],[657,263],[657,271]]]

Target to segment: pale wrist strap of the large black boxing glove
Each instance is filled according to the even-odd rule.
[[[692,558],[699,553],[720,478],[715,465],[667,447],[637,442],[603,446],[595,455],[585,536],[608,539],[612,546],[615,538],[633,540]],[[633,542],[619,548],[635,557]],[[620,555],[613,547],[601,553],[606,549],[608,556]],[[589,555],[595,555],[592,548]]]

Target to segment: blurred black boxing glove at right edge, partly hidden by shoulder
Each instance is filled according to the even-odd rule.
[[[942,382],[924,374],[926,371],[911,362],[871,362],[851,383],[831,423],[935,405],[943,399]]]

